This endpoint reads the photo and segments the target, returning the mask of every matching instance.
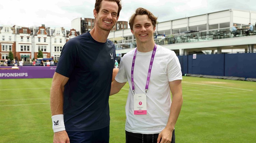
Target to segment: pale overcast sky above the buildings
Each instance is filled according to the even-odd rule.
[[[95,0],[4,0],[0,3],[0,25],[71,28],[75,18],[94,18]],[[129,21],[138,7],[151,11],[158,22],[228,9],[256,12],[256,0],[122,0],[119,21]]]

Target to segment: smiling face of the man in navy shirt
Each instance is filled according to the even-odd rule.
[[[97,13],[94,9],[95,26],[104,31],[110,31],[118,20],[117,12],[116,2],[103,0],[99,12]]]

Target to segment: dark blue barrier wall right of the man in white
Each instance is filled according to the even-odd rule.
[[[183,74],[256,78],[256,53],[178,56]]]

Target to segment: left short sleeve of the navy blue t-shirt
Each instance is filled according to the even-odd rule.
[[[71,39],[63,46],[55,72],[66,77],[71,76],[77,64],[78,44],[76,40]]]

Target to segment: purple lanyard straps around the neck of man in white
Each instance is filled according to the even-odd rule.
[[[133,94],[134,94],[133,71],[134,71],[136,52],[137,52],[137,49],[135,49],[135,52],[134,52],[134,55],[133,55],[133,60],[132,60],[132,65],[131,65],[131,85],[132,85]],[[151,56],[151,60],[150,60],[150,66],[148,68],[147,82],[146,82],[146,87],[145,87],[145,91],[146,92],[148,90],[148,85],[149,85],[149,81],[150,81],[150,74],[151,74],[151,69],[152,69],[152,66],[153,66],[153,61],[154,61],[155,53],[156,53],[156,44],[155,44],[153,52],[152,52],[152,56]]]

